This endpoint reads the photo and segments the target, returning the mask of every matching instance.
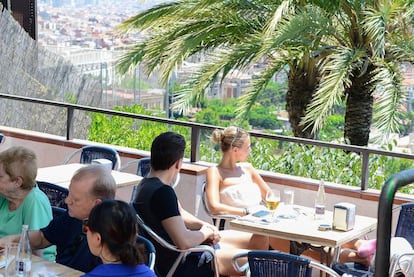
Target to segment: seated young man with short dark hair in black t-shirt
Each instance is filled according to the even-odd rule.
[[[141,181],[134,196],[133,205],[140,217],[158,235],[176,245],[188,249],[200,244],[217,245],[219,241],[231,244],[225,232],[204,222],[184,210],[170,185],[181,169],[185,149],[184,137],[166,132],[156,137],[151,146],[151,170]],[[167,250],[152,240],[156,247],[155,268],[160,276],[165,276],[177,257],[177,253]],[[216,251],[220,274],[238,275],[231,264],[237,251],[218,249]],[[213,276],[210,264],[199,264],[200,255],[187,256],[174,276]]]

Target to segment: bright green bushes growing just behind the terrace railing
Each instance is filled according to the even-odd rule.
[[[217,104],[215,108],[219,110],[220,105],[217,102],[215,104]],[[118,107],[116,110],[151,115],[137,105]],[[189,157],[191,139],[189,128],[97,113],[91,113],[90,116],[92,124],[88,139],[91,141],[149,151],[154,137],[162,132],[175,131],[186,138],[188,146],[185,156]],[[221,123],[220,126],[231,124],[229,121]],[[335,129],[334,126],[333,123],[332,129]],[[248,127],[244,126],[244,128]],[[203,161],[218,163],[221,153],[217,145],[210,140],[210,135],[210,132],[202,131],[200,157]],[[387,150],[391,151],[394,146],[395,143],[387,145]],[[361,183],[361,157],[356,153],[347,154],[337,149],[252,138],[252,153],[249,159],[256,168],[262,170],[324,179],[350,186],[360,186]],[[384,156],[371,156],[369,164],[369,187],[377,189],[381,187],[386,177],[414,167],[412,160]],[[403,192],[413,193],[414,188],[413,186],[404,187]]]

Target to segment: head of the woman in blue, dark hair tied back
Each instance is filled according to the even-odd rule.
[[[85,222],[89,249],[103,263],[143,263],[143,254],[135,244],[137,228],[135,211],[130,205],[119,200],[102,201]]]

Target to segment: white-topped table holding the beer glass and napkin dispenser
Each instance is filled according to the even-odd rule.
[[[318,226],[321,223],[331,223],[333,213],[326,211],[325,220],[314,220],[313,209],[295,205],[301,213],[293,219],[283,219],[278,217],[282,209],[276,209],[276,223],[263,222],[264,218],[257,218],[247,215],[230,222],[231,228],[235,230],[260,234],[270,237],[322,245],[334,248],[333,261],[339,259],[341,245],[360,238],[367,233],[374,231],[377,227],[377,219],[372,217],[356,215],[355,227],[349,231],[328,230],[320,231]],[[267,221],[268,218],[265,218]]]

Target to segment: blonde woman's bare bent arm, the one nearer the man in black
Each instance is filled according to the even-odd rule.
[[[207,170],[206,180],[206,202],[212,214],[233,214],[246,215],[244,208],[238,208],[220,202],[220,181],[222,177],[217,167],[210,167]]]

